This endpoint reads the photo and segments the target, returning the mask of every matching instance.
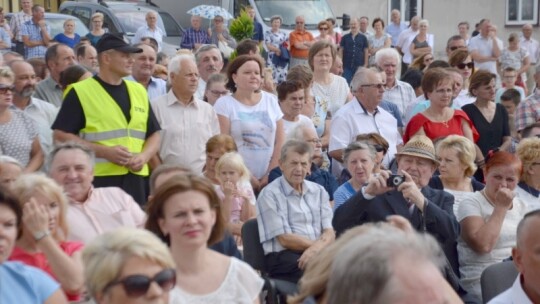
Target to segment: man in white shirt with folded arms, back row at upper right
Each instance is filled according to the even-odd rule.
[[[497,60],[501,56],[502,41],[499,43],[497,34],[489,19],[480,23],[480,34],[469,41],[469,52],[477,70],[488,70],[497,74]],[[497,77],[499,78],[499,77]]]

